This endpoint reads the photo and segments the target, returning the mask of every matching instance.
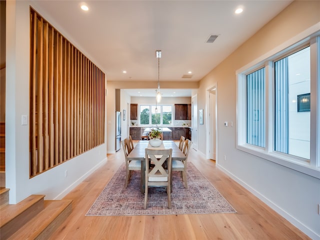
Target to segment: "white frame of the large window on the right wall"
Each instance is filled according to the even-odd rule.
[[[236,148],[320,179],[320,29],[296,36],[236,71]],[[303,35],[302,34],[302,35]],[[302,39],[302,40],[301,40]],[[310,160],[274,151],[274,69],[280,56],[310,45]],[[246,74],[265,67],[265,147],[246,143]]]

